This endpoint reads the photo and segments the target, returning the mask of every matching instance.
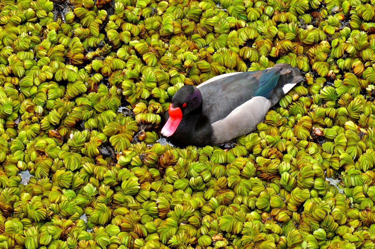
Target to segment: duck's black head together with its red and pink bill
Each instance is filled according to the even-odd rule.
[[[183,116],[202,105],[201,92],[192,85],[184,85],[174,94],[172,103],[169,105],[169,119],[162,129],[162,135],[172,136],[180,124]]]

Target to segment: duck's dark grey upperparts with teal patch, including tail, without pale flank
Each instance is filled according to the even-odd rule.
[[[213,77],[198,85],[203,99],[202,113],[214,123],[255,96],[269,99],[273,106],[284,95],[285,86],[290,90],[303,79],[299,73],[298,68],[289,64],[276,64],[266,70]]]

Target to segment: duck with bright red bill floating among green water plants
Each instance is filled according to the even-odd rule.
[[[267,112],[304,77],[286,63],[226,73],[185,84],[162,117],[161,135],[177,147],[222,145],[253,132]]]

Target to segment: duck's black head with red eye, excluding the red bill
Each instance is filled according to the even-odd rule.
[[[192,110],[202,104],[201,92],[192,85],[184,85],[174,94],[172,98],[172,108],[180,108],[182,116],[189,114]]]

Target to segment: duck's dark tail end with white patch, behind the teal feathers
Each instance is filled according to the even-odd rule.
[[[276,75],[279,75],[277,83],[274,85],[268,97],[272,103],[272,106],[275,105],[282,98],[282,96],[288,93],[297,83],[303,80],[300,69],[298,67],[292,67],[286,63],[276,64],[268,70],[273,71],[273,73]]]

